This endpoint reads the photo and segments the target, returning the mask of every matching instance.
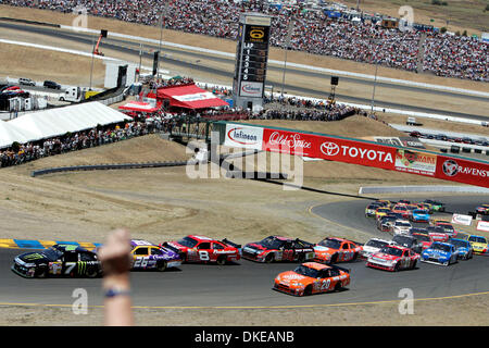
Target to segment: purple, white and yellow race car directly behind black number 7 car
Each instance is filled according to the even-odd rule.
[[[131,239],[130,257],[133,260],[131,270],[158,270],[177,268],[181,264],[180,256],[167,248],[156,246],[148,240]]]

